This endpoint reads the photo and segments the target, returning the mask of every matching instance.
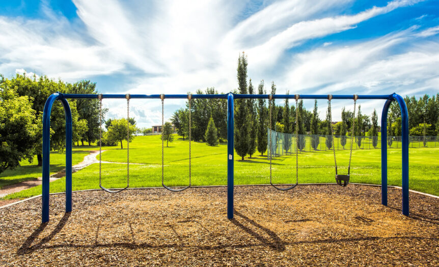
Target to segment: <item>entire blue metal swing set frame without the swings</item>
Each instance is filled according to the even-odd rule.
[[[126,95],[102,95],[102,98],[125,99]],[[273,95],[273,99],[294,99],[295,95]],[[332,95],[332,99],[353,99],[353,95]],[[49,221],[49,174],[50,174],[50,112],[53,102],[60,100],[66,114],[66,212],[72,211],[72,114],[67,99],[98,99],[98,95],[61,94],[49,96],[43,111],[43,188],[42,222]],[[160,99],[160,95],[130,95],[131,99]],[[166,95],[166,98],[186,99],[187,95]],[[234,99],[261,99],[269,95],[192,95],[193,99],[227,99],[227,217],[233,218],[234,189]],[[327,99],[328,95],[299,95],[300,99]],[[358,99],[387,100],[381,116],[381,203],[387,205],[387,113],[392,101],[396,100],[401,108],[402,117],[402,214],[408,216],[408,112],[404,99],[397,94],[359,95]]]

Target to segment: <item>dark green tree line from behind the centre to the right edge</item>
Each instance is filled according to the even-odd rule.
[[[247,74],[248,61],[246,55],[242,54],[238,57],[237,64],[237,90],[233,93],[239,94],[266,94],[264,80],[261,80],[257,86],[257,90],[252,83],[252,79],[248,79]],[[276,94],[276,84],[271,82],[270,94]],[[197,94],[218,94],[215,88],[207,88],[205,92],[197,91]],[[289,92],[286,92],[289,94]],[[193,128],[192,139],[195,141],[207,141],[207,130],[213,129],[211,125],[208,127],[209,120],[213,121],[213,127],[217,128],[217,140],[220,142],[227,141],[227,101],[222,99],[195,99],[192,100],[191,107]],[[347,143],[347,136],[356,136],[356,143],[361,146],[364,137],[372,137],[372,144],[376,147],[378,142],[378,114],[374,109],[371,115],[363,114],[361,105],[355,110],[341,110],[341,121],[334,123],[330,120],[329,107],[326,109],[325,120],[319,117],[317,100],[314,101],[314,108],[309,111],[305,108],[303,100],[299,100],[297,108],[294,104],[290,105],[289,100],[285,99],[281,105],[276,105],[276,101],[271,100],[271,129],[282,133],[297,133],[299,135],[311,134],[315,135],[311,138],[311,146],[317,149],[319,145],[318,135],[331,135],[331,128],[334,135],[341,136],[341,144]],[[410,135],[439,135],[439,94],[436,96],[424,95],[419,100],[415,97],[405,97],[409,114]],[[266,99],[236,99],[235,100],[235,133],[234,147],[236,153],[244,159],[246,155],[250,158],[258,151],[263,155],[267,150],[267,129],[269,126],[268,106]],[[297,122],[296,122],[297,113]],[[188,104],[186,108],[181,108],[174,112],[172,122],[177,128],[177,133],[183,136],[188,134]],[[355,120],[355,123],[354,123]],[[401,135],[401,115],[399,106],[393,102],[389,110],[389,127],[388,135]],[[354,127],[353,127],[354,126]],[[209,128],[209,129],[208,129]],[[212,134],[210,134],[212,136]],[[287,137],[288,138],[288,137]],[[325,139],[326,146],[331,149],[331,137]],[[390,140],[391,142],[391,140]],[[286,140],[285,145],[291,142]],[[298,149],[303,150],[306,145],[304,136],[299,136]],[[288,147],[287,147],[288,149]]]

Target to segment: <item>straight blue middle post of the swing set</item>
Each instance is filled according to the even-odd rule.
[[[233,94],[227,96],[227,218],[233,219],[233,156],[234,156]]]

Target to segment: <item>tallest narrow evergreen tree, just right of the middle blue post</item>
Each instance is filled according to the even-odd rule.
[[[237,78],[239,94],[247,94],[247,57],[242,52],[238,58]],[[249,110],[245,99],[235,101],[235,151],[244,160],[249,152]]]

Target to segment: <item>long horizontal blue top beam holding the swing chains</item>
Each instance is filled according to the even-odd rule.
[[[224,95],[192,95],[193,99],[216,98],[227,99],[228,94]],[[270,95],[240,95],[234,94],[234,99],[252,98],[252,99],[268,99]],[[359,95],[358,99],[393,99],[393,95]],[[98,98],[98,95],[92,94],[60,94],[60,98]],[[125,95],[103,94],[102,98],[125,98]],[[160,95],[130,95],[131,99],[160,99]],[[164,95],[164,98],[187,99],[187,95]],[[273,99],[294,99],[295,95],[273,95]],[[353,95],[332,95],[333,99],[353,99]],[[328,95],[299,95],[299,99],[328,99]]]

